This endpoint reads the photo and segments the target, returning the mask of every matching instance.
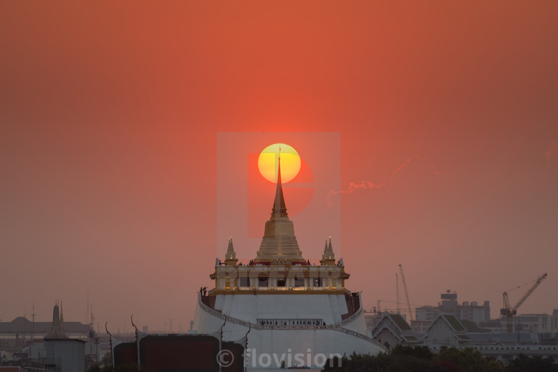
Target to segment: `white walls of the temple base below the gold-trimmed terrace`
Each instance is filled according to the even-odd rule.
[[[200,297],[193,331],[220,335],[224,324],[223,341],[244,344],[247,336],[246,361],[251,370],[281,369],[281,360],[287,367],[302,363],[319,368],[334,355],[386,351],[367,336],[362,303],[359,311],[341,321],[347,312],[344,294],[219,294],[214,309],[204,305]],[[291,320],[291,325],[278,322],[277,326],[262,326],[262,319]],[[309,319],[321,319],[326,325],[296,325],[296,320]]]

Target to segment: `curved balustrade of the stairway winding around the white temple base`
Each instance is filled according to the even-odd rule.
[[[210,313],[211,315],[218,317],[220,319],[225,319],[227,318],[227,322],[232,322],[238,325],[242,325],[245,327],[252,327],[256,330],[334,330],[334,331],[338,331],[338,332],[343,332],[347,335],[351,335],[354,337],[358,337],[359,339],[363,339],[366,340],[368,342],[371,342],[372,344],[378,346],[379,348],[381,348],[383,351],[388,352],[389,350],[387,349],[387,347],[385,345],[383,345],[381,342],[378,342],[376,340],[374,340],[372,337],[368,337],[367,335],[363,335],[359,332],[355,332],[355,331],[351,331],[348,330],[347,328],[343,328],[341,327],[341,325],[345,325],[347,323],[349,323],[350,321],[354,320],[357,316],[360,315],[360,313],[362,313],[362,307],[360,308],[360,310],[356,313],[354,313],[352,316],[348,317],[347,319],[345,319],[342,322],[339,323],[335,323],[334,325],[330,325],[330,326],[262,326],[262,325],[258,325],[258,324],[252,324],[243,320],[240,320],[238,318],[234,318],[232,316],[228,316],[228,315],[224,315],[223,313],[220,313],[218,311],[213,310],[211,307],[205,305],[205,303],[203,303],[203,301],[201,301],[201,294],[198,293],[198,303],[201,307],[202,310],[204,310],[205,312]]]

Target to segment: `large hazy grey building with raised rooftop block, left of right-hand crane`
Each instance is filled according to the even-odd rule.
[[[484,301],[482,306],[477,301],[464,301],[459,305],[457,293],[446,291],[440,294],[441,302],[438,306],[421,306],[415,308],[415,321],[411,321],[411,326],[417,332],[424,332],[429,327],[440,312],[451,314],[459,320],[468,320],[475,323],[487,322],[490,320],[490,302]]]

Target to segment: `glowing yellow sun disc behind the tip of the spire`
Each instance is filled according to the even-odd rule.
[[[279,148],[281,147],[281,152]],[[278,158],[281,156],[281,182],[288,182],[300,171],[300,156],[285,143],[275,143],[263,149],[258,158],[258,169],[270,182],[277,182]]]

